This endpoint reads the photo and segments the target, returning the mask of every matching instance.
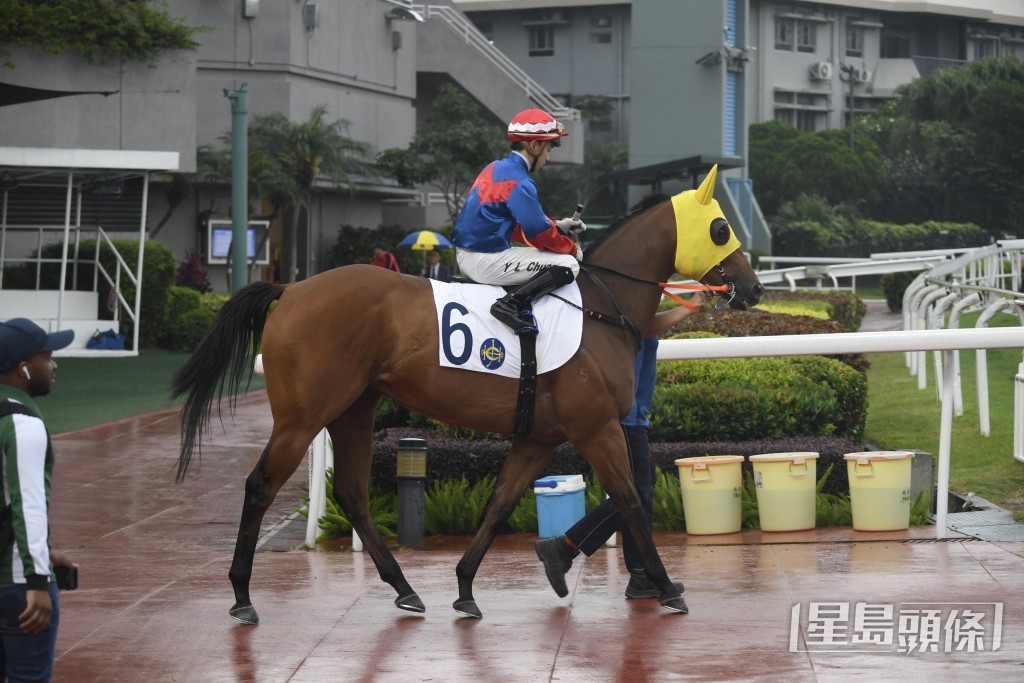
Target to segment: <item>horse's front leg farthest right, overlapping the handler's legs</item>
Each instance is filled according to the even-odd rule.
[[[575,445],[594,468],[594,474],[601,481],[605,493],[618,508],[623,522],[629,527],[637,550],[643,556],[644,572],[660,591],[658,602],[672,611],[689,611],[679,588],[669,579],[647,528],[640,496],[633,484],[622,427],[617,423],[609,423],[585,439],[575,441]]]

